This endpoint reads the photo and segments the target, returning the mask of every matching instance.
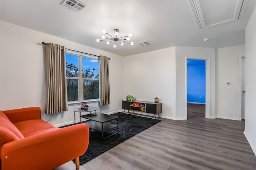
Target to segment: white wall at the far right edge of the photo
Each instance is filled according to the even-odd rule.
[[[256,154],[256,7],[245,30],[246,55],[246,104],[245,130],[254,154]]]

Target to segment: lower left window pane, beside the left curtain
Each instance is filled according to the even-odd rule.
[[[78,101],[78,80],[67,79],[68,102]]]

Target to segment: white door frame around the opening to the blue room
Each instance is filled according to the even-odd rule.
[[[185,59],[185,118],[188,119],[188,59],[205,60],[205,118],[210,119],[210,58],[189,58]]]

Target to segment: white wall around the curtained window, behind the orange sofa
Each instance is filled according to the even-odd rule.
[[[110,105],[99,106],[99,103],[90,104],[99,108],[100,112],[110,113],[121,109],[123,90],[123,57],[81,45],[66,39],[54,37],[18,25],[1,21],[1,110],[22,107],[37,107],[42,110],[42,118],[58,125],[74,121],[73,108],[54,115],[46,115],[45,111],[45,70],[44,46],[42,42],[51,42],[65,46],[68,49],[82,51],[94,55],[110,57]],[[85,37],[86,38],[86,37]],[[52,118],[51,118],[52,117]],[[77,114],[78,119],[78,114]]]

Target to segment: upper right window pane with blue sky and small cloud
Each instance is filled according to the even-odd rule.
[[[83,78],[99,78],[99,62],[95,59],[82,57]]]

